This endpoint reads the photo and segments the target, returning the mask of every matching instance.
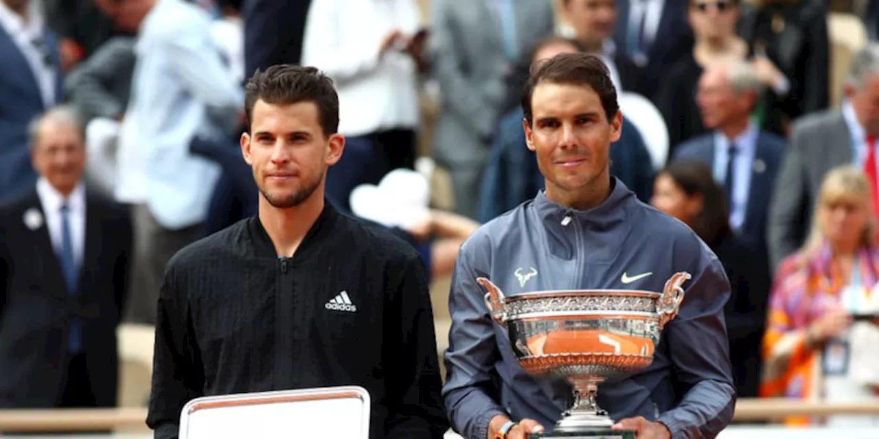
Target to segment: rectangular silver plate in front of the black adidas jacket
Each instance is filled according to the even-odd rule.
[[[369,438],[370,399],[356,385],[196,398],[183,407],[180,439]]]

